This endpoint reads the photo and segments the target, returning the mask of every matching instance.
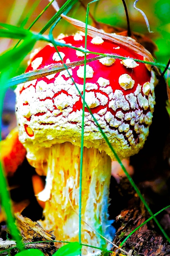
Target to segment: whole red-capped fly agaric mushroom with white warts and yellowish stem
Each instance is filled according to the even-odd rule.
[[[82,49],[85,36],[80,32],[61,38],[61,42]],[[60,41],[59,40],[59,41]],[[143,147],[152,122],[155,104],[153,71],[131,49],[101,37],[87,36],[92,52],[127,57],[121,61],[110,57],[86,65],[85,101],[107,135],[118,156],[123,159]],[[65,63],[83,60],[84,54],[58,47]],[[87,58],[96,57],[88,54]],[[32,59],[26,72],[62,63],[49,44]],[[69,68],[83,93],[84,65]],[[46,230],[54,230],[57,240],[78,241],[79,167],[81,145],[82,99],[67,70],[18,85],[17,118],[19,139],[27,150],[27,159],[39,175],[46,175],[46,187],[39,193],[45,201]],[[82,173],[81,218],[98,233],[112,239],[108,220],[111,159],[115,160],[96,123],[85,108],[84,153]],[[105,248],[107,242],[82,221],[81,241]],[[82,253],[97,253],[87,247]]]

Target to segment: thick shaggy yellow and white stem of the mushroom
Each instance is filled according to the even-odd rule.
[[[43,201],[43,195],[45,200],[49,195],[49,199],[46,201],[43,212],[45,219],[40,220],[39,223],[48,231],[54,230],[57,240],[78,241],[80,147],[70,142],[55,144],[51,148],[41,149],[35,157],[42,159],[42,155],[46,155],[46,163],[42,164],[42,168],[47,179],[45,190],[39,194],[39,199]],[[34,162],[35,167],[40,166],[38,162]],[[40,172],[40,170],[37,171]],[[94,230],[109,240],[113,239],[111,236],[113,221],[108,220],[110,176],[110,156],[96,148],[84,148],[81,197],[81,242],[83,244],[107,247],[106,240]],[[52,180],[51,177],[53,177]],[[97,249],[84,247],[82,255],[99,252]]]

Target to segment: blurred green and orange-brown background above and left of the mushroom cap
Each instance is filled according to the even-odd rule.
[[[58,0],[61,6],[63,0]],[[137,7],[142,9],[150,24],[153,33],[149,33],[145,24],[145,20],[140,12],[133,8],[133,0],[126,0],[128,7],[131,30],[148,36],[157,45],[155,52],[156,60],[166,64],[170,58],[170,1],[169,0],[139,0]],[[39,13],[46,7],[48,0],[0,0],[0,22],[23,26],[28,28]],[[85,21],[86,10],[82,6],[87,5],[89,1],[82,0],[77,3],[69,12],[69,16]],[[90,13],[98,22],[110,24],[112,26],[127,28],[127,22],[124,12],[124,6],[121,0],[100,0],[90,5]],[[42,15],[42,17],[34,24],[32,31],[39,32],[45,24],[55,14],[52,6]],[[89,17],[89,24],[92,20]],[[60,33],[72,34],[76,31],[72,25],[65,20],[61,20],[54,29],[54,36]],[[48,31],[46,31],[48,34]],[[0,39],[0,54],[15,45],[15,40]],[[42,42],[36,44],[35,47],[41,47]],[[18,68],[18,73],[23,73],[27,65],[27,58],[23,60]],[[16,74],[17,75],[17,74]],[[8,132],[15,127],[15,95],[9,90],[4,100],[4,113],[2,120],[2,138],[4,139]]]

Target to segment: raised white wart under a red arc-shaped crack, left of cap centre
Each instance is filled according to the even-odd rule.
[[[54,98],[54,105],[62,110],[71,105],[73,98],[70,95],[66,95],[65,93],[61,92],[58,96]]]

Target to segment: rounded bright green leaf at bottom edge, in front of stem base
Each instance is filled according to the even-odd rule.
[[[81,254],[81,247],[78,242],[69,243],[58,249],[53,256],[76,256]]]

